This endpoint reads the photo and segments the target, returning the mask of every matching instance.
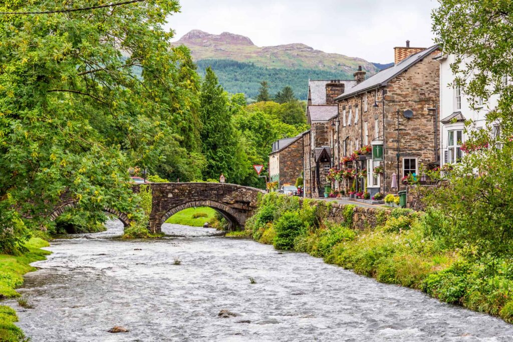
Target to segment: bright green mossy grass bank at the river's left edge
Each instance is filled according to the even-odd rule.
[[[29,264],[44,260],[50,252],[40,249],[48,246],[48,242],[33,237],[26,244],[27,251],[21,255],[0,254],[0,298],[18,297],[14,289],[23,284],[23,275],[34,271]],[[23,341],[23,332],[14,325],[18,320],[16,312],[7,306],[0,305],[0,341]]]

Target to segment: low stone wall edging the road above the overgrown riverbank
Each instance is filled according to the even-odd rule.
[[[344,211],[348,205],[339,204],[336,202],[327,202],[324,200],[309,199],[314,205],[323,204],[330,205],[330,210],[327,219],[330,222],[341,224],[344,222]],[[300,198],[302,205],[304,198]],[[365,208],[365,207],[354,207],[353,208],[353,223],[352,229],[354,230],[365,230],[374,229],[378,225],[385,222],[390,216],[392,209],[389,208]],[[380,214],[378,214],[380,213]],[[379,221],[379,222],[378,222]]]

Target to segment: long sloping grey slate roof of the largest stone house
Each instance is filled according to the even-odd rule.
[[[419,53],[413,54],[408,58],[403,59],[403,61],[401,61],[397,65],[394,65],[393,67],[390,67],[388,69],[384,69],[378,72],[377,74],[370,76],[362,83],[352,88],[349,88],[342,95],[338,96],[336,100],[347,98],[357,93],[361,93],[372,88],[376,88],[378,86],[385,86],[388,83],[388,81],[390,81],[390,79],[398,76],[399,74],[403,73],[413,65],[422,61],[424,57],[428,56],[431,52],[437,50],[438,48],[438,45],[433,45],[430,48],[427,48]]]

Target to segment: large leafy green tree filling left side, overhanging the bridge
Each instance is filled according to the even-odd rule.
[[[62,7],[0,3],[2,11]],[[190,56],[170,50],[163,29],[178,10],[160,0],[0,18],[0,251],[15,252],[30,228],[48,226],[63,200],[91,216],[104,207],[139,215],[127,169],[154,168],[165,137],[198,122]]]

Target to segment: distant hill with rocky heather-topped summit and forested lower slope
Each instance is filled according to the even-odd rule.
[[[192,30],[172,45],[187,46],[201,74],[211,66],[226,91],[242,92],[250,98],[258,94],[261,81],[269,83],[271,94],[291,86],[298,98],[306,99],[308,79],[353,79],[358,66],[367,76],[380,70],[365,59],[304,44],[258,47],[250,38],[229,32]]]

